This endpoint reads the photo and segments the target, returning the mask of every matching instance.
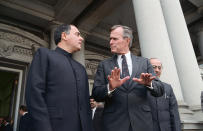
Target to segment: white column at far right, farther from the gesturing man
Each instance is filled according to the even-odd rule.
[[[200,107],[203,83],[179,0],[160,0],[184,100]]]

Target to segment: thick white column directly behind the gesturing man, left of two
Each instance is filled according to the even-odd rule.
[[[177,100],[184,103],[159,0],[133,0],[133,5],[142,56],[162,61],[161,79],[172,85]]]

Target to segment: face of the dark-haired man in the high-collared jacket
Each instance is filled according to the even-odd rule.
[[[64,33],[64,39],[66,41],[67,46],[71,49],[70,53],[79,51],[84,41],[79,30],[72,25],[70,33],[69,34]]]

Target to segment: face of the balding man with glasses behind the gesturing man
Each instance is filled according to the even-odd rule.
[[[156,73],[156,76],[160,77],[162,72],[161,61],[159,61],[158,59],[151,59],[150,63],[152,64],[152,67],[154,69],[154,72]]]

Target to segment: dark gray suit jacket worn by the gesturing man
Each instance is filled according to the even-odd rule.
[[[93,97],[96,101],[105,101],[103,111],[103,131],[128,131],[131,125],[133,131],[152,131],[152,115],[147,99],[147,92],[155,96],[163,94],[162,83],[153,81],[154,89],[132,81],[139,78],[141,73],[152,73],[153,68],[149,60],[132,55],[133,71],[128,84],[118,87],[111,96],[108,96],[107,76],[114,67],[119,67],[117,56],[102,61],[94,80]]]

